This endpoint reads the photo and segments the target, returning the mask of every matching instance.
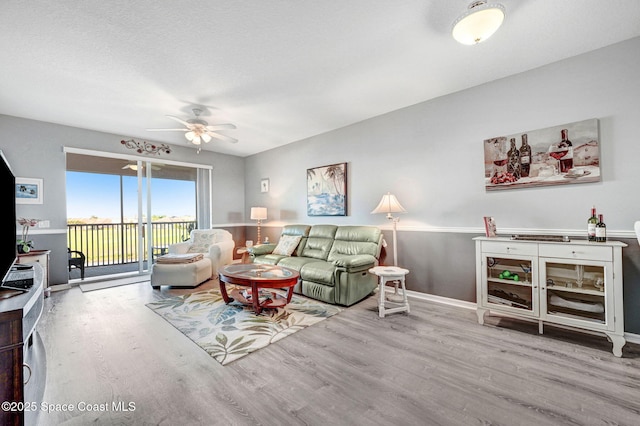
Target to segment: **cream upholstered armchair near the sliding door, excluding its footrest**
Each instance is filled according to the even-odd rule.
[[[211,260],[211,278],[218,278],[218,269],[233,261],[236,243],[224,229],[194,229],[190,238],[182,243],[170,244],[169,253],[203,253]]]

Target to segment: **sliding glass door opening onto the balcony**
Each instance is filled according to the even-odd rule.
[[[85,278],[148,273],[169,244],[187,239],[198,199],[208,201],[199,169],[67,152],[67,240],[85,255]]]

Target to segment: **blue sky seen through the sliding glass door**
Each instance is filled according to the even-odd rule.
[[[137,187],[136,177],[123,177],[126,218],[137,217]],[[151,191],[153,216],[195,218],[195,182],[154,178],[151,180]],[[146,204],[143,208],[146,208]],[[84,219],[92,216],[119,221],[120,176],[67,172],[67,217]]]

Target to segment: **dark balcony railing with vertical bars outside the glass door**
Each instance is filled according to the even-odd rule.
[[[143,260],[149,258],[147,253],[146,229],[143,223]],[[195,229],[196,222],[152,222],[153,247],[166,247],[169,244],[182,242],[189,238]],[[92,223],[68,224],[67,246],[71,250],[84,253],[85,266],[109,266],[136,263],[138,254],[137,223]],[[158,254],[158,253],[153,253]]]

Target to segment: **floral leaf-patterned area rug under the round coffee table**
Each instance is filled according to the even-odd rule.
[[[342,309],[294,295],[291,303],[256,315],[224,303],[220,290],[199,291],[146,305],[222,365],[329,318]]]

